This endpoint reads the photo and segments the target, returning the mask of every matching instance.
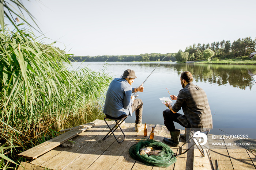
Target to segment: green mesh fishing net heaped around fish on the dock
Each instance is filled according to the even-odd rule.
[[[147,146],[151,146],[162,151],[158,155],[140,155],[140,149]],[[168,167],[177,161],[176,154],[170,149],[169,146],[162,142],[151,139],[140,140],[139,143],[131,146],[129,149],[129,154],[133,159],[143,162],[149,166]]]

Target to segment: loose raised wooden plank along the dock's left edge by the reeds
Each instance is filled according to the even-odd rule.
[[[36,159],[42,154],[45,154],[46,152],[52,150],[53,148],[59,146],[60,144],[66,142],[67,140],[74,138],[74,136],[84,132],[85,130],[89,129],[90,127],[93,127],[95,124],[91,124],[83,129],[77,129],[77,130],[71,130],[64,134],[61,134],[53,139],[50,139],[44,143],[41,143],[33,148],[30,148],[29,150],[26,150],[20,154],[18,154],[20,157],[27,158],[27,159]]]

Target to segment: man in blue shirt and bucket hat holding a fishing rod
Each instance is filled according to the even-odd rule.
[[[115,78],[109,85],[106,94],[105,107],[103,113],[110,118],[121,119],[127,115],[132,117],[135,111],[135,131],[143,130],[142,126],[142,100],[132,96],[134,92],[143,92],[144,87],[140,85],[138,88],[132,88],[135,72],[131,69],[124,71],[120,78]],[[123,124],[123,123],[122,123]]]

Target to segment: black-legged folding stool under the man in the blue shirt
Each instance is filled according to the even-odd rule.
[[[114,131],[116,131],[116,129],[117,129],[118,127],[120,128],[121,132],[122,132],[123,135],[124,135],[124,132],[123,132],[123,130],[121,129],[120,125],[121,125],[121,123],[123,123],[123,121],[124,121],[126,118],[127,118],[127,115],[120,116],[120,117],[111,117],[111,116],[109,116],[109,115],[106,115],[106,117],[104,117],[104,121],[105,121],[106,124],[108,125],[110,131],[108,132],[108,134],[106,134],[106,136],[104,136],[104,138],[103,138],[102,140],[105,140],[106,138],[108,138],[108,137],[111,135],[111,134],[109,135],[110,132],[111,132],[111,133],[114,135],[114,137],[116,138],[116,135],[114,134]],[[110,128],[110,126],[109,126],[109,124],[107,123],[106,119],[108,119],[108,120],[114,120],[114,121],[116,122],[116,125],[114,125],[113,128]],[[114,129],[114,130],[113,130],[113,129]],[[124,135],[124,139],[125,139],[125,135]],[[117,141],[118,143],[121,143],[121,142],[124,141],[124,139],[121,140],[121,141],[119,141],[119,140],[116,138],[116,141]]]

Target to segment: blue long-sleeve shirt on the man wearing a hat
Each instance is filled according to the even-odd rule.
[[[131,100],[134,89],[125,78],[115,78],[109,85],[103,113],[119,117],[123,114],[132,116]]]

